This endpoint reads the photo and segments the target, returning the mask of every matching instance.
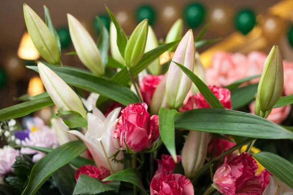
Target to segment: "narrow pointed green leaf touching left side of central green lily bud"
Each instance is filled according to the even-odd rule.
[[[126,34],[123,31],[123,29],[121,28],[121,26],[119,25],[118,21],[116,20],[114,14],[108,9],[107,6],[105,6],[105,7],[106,7],[106,10],[107,10],[112,22],[115,25],[115,28],[117,31],[117,46],[118,46],[118,49],[119,49],[121,56],[124,57],[125,48],[126,48],[126,44],[127,44]]]

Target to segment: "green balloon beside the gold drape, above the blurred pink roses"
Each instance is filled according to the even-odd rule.
[[[236,29],[247,35],[256,23],[256,15],[251,9],[240,10],[235,17]]]

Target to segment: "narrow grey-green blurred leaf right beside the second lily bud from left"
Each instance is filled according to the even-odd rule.
[[[101,59],[103,62],[104,67],[106,67],[108,63],[108,50],[109,50],[109,32],[107,28],[105,27],[104,22],[96,16],[96,20],[98,20],[100,25],[100,35],[98,39],[98,49],[100,51]]]

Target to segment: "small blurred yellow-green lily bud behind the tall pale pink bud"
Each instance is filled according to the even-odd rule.
[[[178,19],[175,21],[171,29],[169,30],[166,40],[166,43],[173,42],[177,39],[180,39],[182,37],[182,32],[183,32],[183,20]],[[171,52],[175,47],[172,47],[169,49],[169,52]]]

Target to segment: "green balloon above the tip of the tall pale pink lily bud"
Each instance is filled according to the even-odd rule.
[[[206,9],[201,3],[191,3],[184,11],[185,20],[190,28],[200,26],[206,18]]]

